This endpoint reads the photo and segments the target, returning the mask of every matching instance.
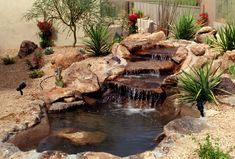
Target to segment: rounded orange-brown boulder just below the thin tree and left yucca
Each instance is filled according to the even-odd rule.
[[[84,57],[81,53],[77,52],[66,52],[64,54],[54,54],[51,60],[53,68],[68,68],[72,63],[79,62],[84,60]]]

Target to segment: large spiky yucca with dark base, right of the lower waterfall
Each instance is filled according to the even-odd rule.
[[[202,68],[190,67],[190,72],[183,71],[179,77],[180,100],[184,103],[196,102],[198,110],[204,116],[203,105],[206,101],[218,104],[214,95],[216,86],[221,82],[219,67],[212,71],[212,62]]]

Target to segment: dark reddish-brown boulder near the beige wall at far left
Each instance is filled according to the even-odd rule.
[[[32,54],[37,48],[38,48],[38,46],[34,42],[29,41],[29,40],[25,40],[20,45],[20,50],[18,52],[18,56],[20,58],[28,56],[28,55]]]

